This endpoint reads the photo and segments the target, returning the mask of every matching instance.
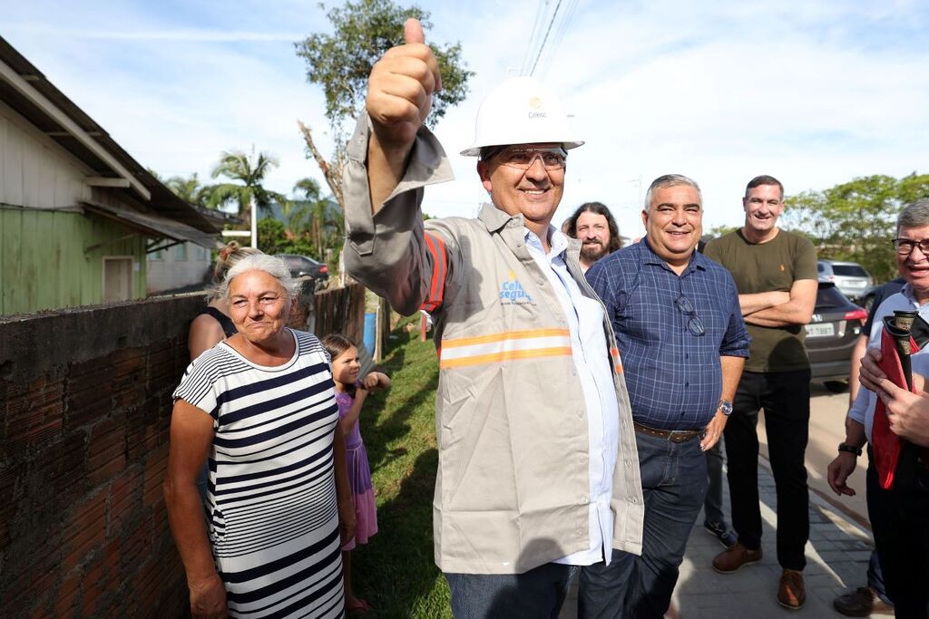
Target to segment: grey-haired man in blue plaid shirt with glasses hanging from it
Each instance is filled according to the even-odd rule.
[[[587,271],[622,353],[646,500],[642,556],[610,568],[629,582],[627,616],[668,610],[706,495],[705,452],[726,427],[749,355],[732,277],[696,251],[702,219],[700,187],[661,176],[648,187],[645,239]]]

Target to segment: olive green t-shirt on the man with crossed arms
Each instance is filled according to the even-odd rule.
[[[739,294],[790,292],[798,279],[817,279],[816,248],[803,237],[779,230],[766,243],[752,243],[741,230],[713,239],[704,253],[722,264],[736,281]],[[787,372],[810,367],[803,325],[759,327],[746,324],[752,336],[749,372]]]

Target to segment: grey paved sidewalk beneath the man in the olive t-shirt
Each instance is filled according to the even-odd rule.
[[[679,619],[784,619],[785,617],[842,617],[832,609],[832,599],[847,589],[863,586],[872,542],[870,532],[842,511],[810,493],[810,539],[806,544],[806,603],[799,611],[782,608],[776,599],[780,566],[775,548],[777,496],[768,462],[759,459],[759,495],[762,501],[764,560],[735,574],[717,574],[712,562],[722,545],[703,530],[703,515],[687,542],[674,588],[672,608]],[[725,483],[723,505],[729,504]],[[571,588],[561,619],[577,616],[576,589]],[[668,616],[675,616],[669,613]],[[891,615],[874,614],[874,617]]]

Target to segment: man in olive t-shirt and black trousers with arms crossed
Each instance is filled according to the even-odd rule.
[[[813,244],[777,227],[783,198],[778,179],[753,178],[742,199],[745,226],[710,241],[705,251],[735,279],[752,335],[751,356],[724,432],[732,526],[739,542],[713,560],[713,569],[728,574],[762,558],[756,426],[758,410],[764,408],[778,493],[778,561],[783,568],[778,601],[796,609],[805,600],[802,571],[809,536],[804,458],[810,365],[804,325],[813,314],[818,274]]]

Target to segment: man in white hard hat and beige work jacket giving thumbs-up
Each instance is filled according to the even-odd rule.
[[[419,22],[368,83],[347,148],[348,272],[401,314],[435,321],[435,558],[456,617],[554,617],[579,574],[582,617],[622,616],[644,506],[622,363],[580,242],[551,226],[568,151],[582,145],[530,78],[478,111],[490,195],[475,219],[422,221],[426,185],[451,179],[424,126],[438,65]]]

